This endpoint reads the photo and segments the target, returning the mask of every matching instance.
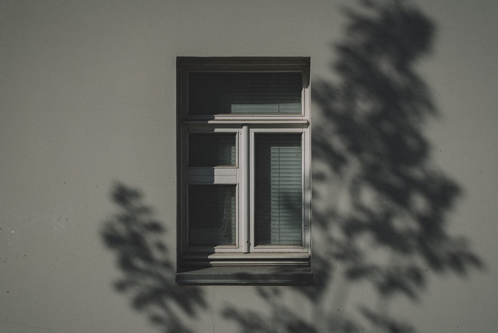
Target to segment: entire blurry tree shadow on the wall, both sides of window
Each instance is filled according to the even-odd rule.
[[[433,23],[396,0],[345,13],[344,42],[333,47],[337,81],[315,81],[312,91],[314,286],[244,287],[269,311],[227,305],[221,316],[242,333],[413,332],[378,304],[418,300],[432,272],[483,266],[449,233],[461,189],[433,165],[423,135],[437,110],[414,66],[431,49]],[[117,291],[162,332],[192,332],[188,323],[210,310],[203,289],[175,284],[174,249],[137,190],[119,184],[113,201],[120,213],[102,236],[123,272]],[[350,293],[366,285],[377,302],[366,294],[352,305]]]

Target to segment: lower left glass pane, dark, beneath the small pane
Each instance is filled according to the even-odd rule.
[[[236,185],[190,185],[189,245],[236,244]]]

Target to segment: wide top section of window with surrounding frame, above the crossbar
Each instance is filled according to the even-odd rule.
[[[179,57],[180,116],[183,121],[210,123],[308,121],[309,63],[307,57]],[[192,80],[200,80],[197,83],[201,89],[196,91],[197,84]],[[265,86],[266,81],[273,83]],[[202,92],[206,87],[211,89],[207,95]]]

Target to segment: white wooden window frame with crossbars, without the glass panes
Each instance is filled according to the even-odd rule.
[[[194,58],[178,60],[178,260],[181,265],[309,265],[311,247],[311,139],[309,58]],[[192,72],[299,72],[300,114],[188,113]],[[236,166],[188,167],[190,133],[236,133]],[[254,245],[254,137],[299,133],[302,149],[302,245]],[[188,240],[188,187],[236,185],[236,245],[192,246]]]

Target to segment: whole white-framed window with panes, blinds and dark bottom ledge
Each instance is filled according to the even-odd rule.
[[[307,283],[309,58],[177,58],[179,283]]]

